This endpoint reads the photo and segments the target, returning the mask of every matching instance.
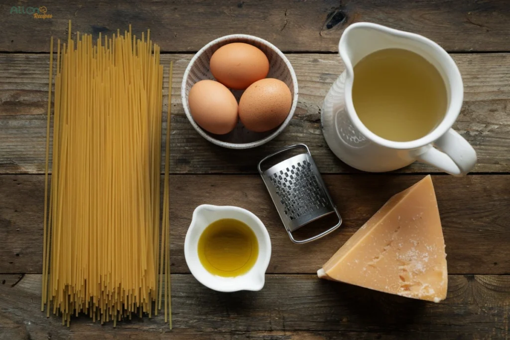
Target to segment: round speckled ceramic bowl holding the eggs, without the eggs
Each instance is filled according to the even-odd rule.
[[[231,133],[226,135],[214,135],[198,126],[198,124],[193,120],[193,117],[191,116],[188,104],[188,93],[191,87],[201,80],[214,80],[214,76],[209,69],[209,61],[218,48],[233,42],[244,42],[261,49],[269,60],[269,73],[267,74],[267,78],[275,78],[281,80],[290,89],[292,94],[292,107],[285,121],[275,129],[264,133],[257,133],[246,129],[241,122],[238,122],[237,126]],[[237,90],[232,91],[232,93],[234,93],[234,96],[239,102],[243,91]],[[297,77],[287,57],[285,57],[282,51],[276,48],[276,46],[270,42],[245,34],[227,35],[215,39],[208,43],[206,46],[203,46],[191,59],[188,67],[186,68],[186,71],[184,72],[183,83],[181,85],[181,98],[186,117],[188,117],[191,125],[193,125],[200,136],[207,139],[211,143],[226,148],[248,149],[269,142],[280,133],[282,133],[285,127],[289,124],[297,106]]]

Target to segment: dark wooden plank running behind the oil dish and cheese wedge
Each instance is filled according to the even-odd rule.
[[[421,175],[326,175],[344,219],[341,229],[293,244],[257,175],[172,175],[172,272],[188,273],[184,238],[199,204],[237,205],[265,223],[272,242],[269,273],[315,273],[393,194]],[[510,176],[433,176],[452,274],[510,273]],[[44,175],[0,176],[0,273],[42,272]]]

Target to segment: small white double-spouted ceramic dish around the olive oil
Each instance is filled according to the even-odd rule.
[[[257,237],[259,256],[253,267],[236,277],[221,277],[203,268],[198,258],[198,240],[202,232],[214,221],[236,219],[247,224]],[[271,240],[264,223],[253,213],[237,206],[202,204],[193,212],[191,224],[184,241],[184,256],[191,274],[203,285],[218,292],[260,291],[271,258]]]

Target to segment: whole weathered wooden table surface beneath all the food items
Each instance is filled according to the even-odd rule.
[[[508,339],[510,313],[510,5],[506,0],[123,2],[46,0],[51,19],[10,14],[0,22],[0,339]],[[174,62],[171,132],[173,325],[162,317],[62,327],[40,312],[44,148],[49,37],[149,28],[162,63]],[[387,174],[356,171],[328,149],[320,107],[343,71],[338,41],[351,23],[416,32],[452,54],[464,79],[454,128],[476,149],[465,177],[413,164]],[[226,34],[259,36],[294,66],[299,102],[285,132],[264,146],[228,150],[188,123],[180,87],[193,53]],[[166,77],[166,73],[165,73]],[[164,109],[167,91],[164,81]],[[164,128],[166,129],[166,115]],[[310,147],[344,218],[335,233],[290,242],[256,172],[270,152]],[[163,141],[164,145],[164,141]],[[316,271],[393,194],[432,173],[448,254],[448,297],[435,304],[319,280]],[[190,275],[183,243],[194,208],[238,205],[266,224],[273,254],[261,292],[213,292]],[[170,332],[170,333],[169,333]]]

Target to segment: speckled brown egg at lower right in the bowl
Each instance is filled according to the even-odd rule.
[[[251,84],[239,101],[239,118],[254,132],[266,132],[282,124],[289,115],[292,94],[287,85],[267,78]]]

